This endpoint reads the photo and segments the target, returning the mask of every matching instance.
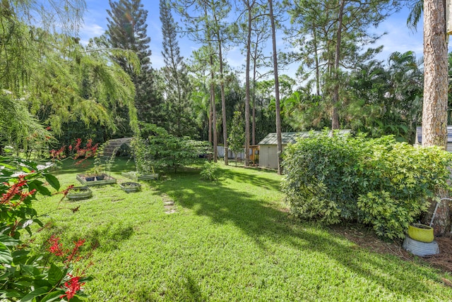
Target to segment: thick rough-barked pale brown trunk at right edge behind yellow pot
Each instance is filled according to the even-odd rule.
[[[422,145],[447,147],[448,61],[446,8],[444,0],[424,0],[424,102],[422,111]],[[437,192],[445,197],[445,192]],[[436,213],[435,213],[436,209]],[[444,235],[451,225],[448,201],[433,203],[426,223],[435,215],[436,235]]]

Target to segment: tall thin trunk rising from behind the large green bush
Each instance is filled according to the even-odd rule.
[[[333,112],[331,114],[331,130],[339,129],[339,61],[340,61],[340,38],[342,35],[343,13],[345,0],[340,0],[338,13],[338,35],[336,40],[336,49],[334,57],[334,88],[333,88]]]

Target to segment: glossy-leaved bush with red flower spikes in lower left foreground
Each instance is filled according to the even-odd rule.
[[[78,300],[83,296],[81,286],[90,280],[84,271],[73,270],[73,264],[83,259],[80,248],[85,241],[76,241],[67,249],[56,236],[49,238],[48,251],[61,267],[20,241],[23,229],[32,236],[32,224],[42,227],[32,200],[37,193],[52,195],[47,183],[59,191],[58,179],[35,162],[16,157],[0,157],[0,167],[0,300]],[[63,195],[67,191],[62,191]]]

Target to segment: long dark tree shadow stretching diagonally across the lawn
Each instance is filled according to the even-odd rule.
[[[227,179],[246,183],[249,191],[238,191],[222,181],[201,181],[199,175],[194,173],[180,174],[171,181],[163,181],[157,190],[167,193],[196,215],[209,217],[215,224],[234,224],[262,249],[266,249],[266,243],[270,240],[298,250],[322,253],[359,277],[371,279],[375,284],[408,298],[412,294],[423,296],[429,291],[428,282],[422,279],[437,281],[423,267],[407,264],[410,265],[409,269],[403,270],[400,260],[396,258],[369,255],[364,250],[352,248],[345,240],[328,236],[326,231],[304,228],[299,222],[287,217],[287,213],[278,209],[278,205],[258,200],[253,190],[262,187],[279,190],[279,181],[270,177],[270,174],[229,168],[223,172],[222,176]]]

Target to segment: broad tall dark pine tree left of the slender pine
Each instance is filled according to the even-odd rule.
[[[145,23],[148,11],[143,9],[141,0],[109,0],[111,10],[107,10],[107,43],[112,48],[129,49],[140,60],[141,70],[136,73],[124,57],[113,58],[128,73],[135,85],[135,105],[138,119],[148,123],[160,123],[160,96],[153,89],[154,71],[150,64],[150,49]],[[121,111],[121,109],[119,109]],[[124,114],[119,114],[124,116]]]

